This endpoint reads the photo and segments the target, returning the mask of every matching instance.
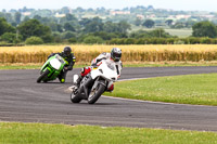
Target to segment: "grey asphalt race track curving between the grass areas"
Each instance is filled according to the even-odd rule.
[[[94,105],[73,104],[58,80],[37,83],[38,69],[0,70],[0,121],[100,125],[217,131],[217,106],[152,103],[102,96]],[[216,73],[217,67],[124,68],[122,79]]]

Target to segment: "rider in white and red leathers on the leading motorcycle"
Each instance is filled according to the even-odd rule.
[[[91,66],[81,68],[80,75],[79,75],[79,77],[77,79],[77,82],[75,84],[78,88],[79,84],[80,84],[80,81],[82,80],[82,78],[91,71],[91,67],[100,66],[102,60],[105,60],[108,63],[115,63],[117,75],[118,75],[118,77],[120,77],[120,70],[123,68],[123,64],[122,64],[120,57],[122,57],[122,50],[119,48],[113,48],[111,53],[102,53],[102,54],[100,54],[98,57],[95,57],[91,62]],[[113,89],[114,88],[112,87],[111,91],[113,91]]]

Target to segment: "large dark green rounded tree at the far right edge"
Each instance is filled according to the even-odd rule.
[[[193,37],[217,37],[217,27],[210,22],[200,22],[193,25]]]

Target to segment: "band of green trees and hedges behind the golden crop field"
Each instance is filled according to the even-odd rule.
[[[8,23],[5,18],[0,17],[0,44],[7,43],[24,43],[24,44],[42,44],[42,43],[138,43],[137,39],[145,39],[149,42],[142,42],[143,44],[154,43],[155,39],[168,39],[163,40],[164,43],[189,40],[177,40],[178,37],[171,36],[163,28],[156,28],[154,30],[137,30],[130,31],[131,25],[126,21],[114,23],[111,21],[103,22],[99,17],[81,18],[78,21],[74,15],[66,14],[65,17],[60,18],[60,22],[50,19],[52,17],[41,17],[36,15],[34,18],[24,18],[20,21],[17,15],[17,25],[13,26]],[[151,25],[149,21],[148,25]],[[145,23],[145,22],[144,22]],[[168,22],[169,23],[169,22]],[[146,26],[149,27],[149,26]],[[196,43],[204,43],[204,39],[217,38],[217,26],[212,22],[199,22],[192,26],[192,37],[197,39]],[[135,39],[135,40],[133,40]],[[191,39],[191,38],[187,38]],[[114,42],[114,41],[127,41],[127,42]],[[130,42],[131,41],[131,42]],[[153,42],[150,42],[153,41]],[[215,40],[209,40],[215,41]],[[140,43],[140,42],[139,42]],[[158,42],[157,42],[158,43]],[[213,43],[213,42],[209,42]],[[159,42],[161,44],[161,42]]]

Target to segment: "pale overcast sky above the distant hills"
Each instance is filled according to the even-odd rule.
[[[217,0],[0,0],[0,10],[17,10],[24,6],[34,9],[61,9],[63,6],[72,9],[77,6],[85,9],[101,6],[106,9],[123,9],[136,5],[153,5],[156,9],[217,12]]]

